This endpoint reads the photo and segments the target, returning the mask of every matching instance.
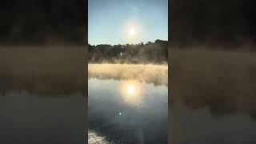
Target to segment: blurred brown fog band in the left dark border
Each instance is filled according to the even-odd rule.
[[[86,90],[83,46],[1,47],[0,90],[69,94]]]

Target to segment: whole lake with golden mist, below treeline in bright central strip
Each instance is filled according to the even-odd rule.
[[[167,143],[167,66],[88,68],[89,143]]]

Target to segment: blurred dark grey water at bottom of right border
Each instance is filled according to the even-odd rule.
[[[216,107],[218,109],[218,107]],[[170,110],[171,142],[174,144],[254,144],[256,120],[242,111],[214,114],[209,106],[191,108],[182,102]]]

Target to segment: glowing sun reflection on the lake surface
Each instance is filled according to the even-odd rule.
[[[122,100],[128,104],[138,105],[142,101],[141,83],[135,80],[124,81],[120,85]]]

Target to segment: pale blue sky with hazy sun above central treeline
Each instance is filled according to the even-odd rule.
[[[134,30],[134,35],[130,30]],[[168,0],[89,0],[88,42],[91,45],[156,39],[168,39]]]

